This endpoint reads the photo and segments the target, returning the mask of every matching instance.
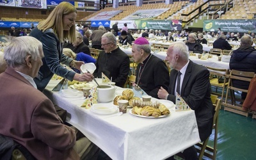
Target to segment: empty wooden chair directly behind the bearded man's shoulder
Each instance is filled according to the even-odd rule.
[[[214,93],[214,95],[220,95],[220,93],[218,93],[217,90],[218,88],[222,88],[221,102],[223,102],[225,88],[227,88],[228,86],[227,75],[229,74],[229,70],[212,67],[207,67],[207,69],[210,71],[211,86],[216,87],[216,91],[212,93]],[[223,83],[220,82],[220,79],[223,79]]]

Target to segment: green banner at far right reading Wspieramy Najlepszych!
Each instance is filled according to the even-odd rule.
[[[204,20],[204,31],[218,31],[218,28],[224,32],[248,33],[256,32],[256,19],[234,19],[234,20]]]

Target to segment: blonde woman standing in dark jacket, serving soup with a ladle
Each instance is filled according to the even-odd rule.
[[[63,42],[76,42],[75,20],[77,16],[76,8],[67,2],[62,2],[52,10],[47,19],[43,20],[34,28],[29,36],[40,40],[43,44],[44,58],[38,76],[34,81],[38,90],[44,90],[53,74],[64,77],[70,81],[92,81],[93,75],[84,73],[77,74],[72,70],[67,70],[60,63],[79,69],[84,63],[68,58],[63,54]]]

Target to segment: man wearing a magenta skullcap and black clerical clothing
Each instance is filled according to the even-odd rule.
[[[132,56],[138,64],[136,69],[136,84],[148,95],[157,97],[161,88],[168,88],[169,72],[164,61],[150,54],[151,47],[146,38],[137,38],[132,44]]]

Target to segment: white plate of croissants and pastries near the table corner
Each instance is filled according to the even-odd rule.
[[[143,102],[138,99],[132,100],[131,113],[133,115],[153,116],[154,118],[170,115],[169,109],[161,102]]]

